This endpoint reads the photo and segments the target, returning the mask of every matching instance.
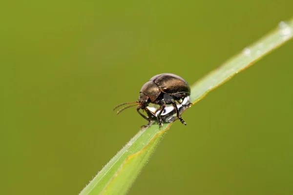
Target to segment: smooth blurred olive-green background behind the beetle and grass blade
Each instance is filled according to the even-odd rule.
[[[292,0],[3,1],[0,194],[76,195],[146,121],[152,76],[192,84],[293,16]],[[129,195],[293,194],[292,48],[175,122]]]

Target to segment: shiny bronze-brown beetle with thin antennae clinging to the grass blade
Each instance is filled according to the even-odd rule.
[[[137,103],[122,108],[117,112],[117,115],[126,108],[138,105],[136,108],[137,112],[148,121],[146,125],[142,125],[142,128],[147,128],[153,120],[157,121],[159,127],[161,127],[163,121],[171,122],[172,120],[170,121],[170,118],[172,118],[171,116],[174,114],[176,114],[176,117],[178,117],[182,124],[186,125],[181,114],[186,108],[192,105],[192,103],[189,102],[189,96],[190,87],[183,78],[174,74],[163,73],[150,78],[149,81],[142,86],[138,101],[119,104],[115,106],[113,110],[125,104]],[[187,101],[184,101],[185,99]],[[159,108],[155,112],[152,112],[150,108],[148,108],[149,104],[159,105]],[[167,109],[165,109],[166,105],[172,105],[173,109],[167,112]],[[145,111],[147,116],[142,114],[140,110]],[[167,113],[166,115],[162,115],[164,111]],[[174,118],[175,117],[172,119]]]

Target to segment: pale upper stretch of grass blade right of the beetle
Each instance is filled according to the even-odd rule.
[[[293,37],[293,19],[281,21],[277,29],[243,49],[241,53],[226,61],[191,87],[191,101],[197,102],[209,91],[223,84],[235,74],[248,68]]]

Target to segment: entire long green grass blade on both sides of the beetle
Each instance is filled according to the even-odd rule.
[[[190,100],[195,103],[204,98],[209,91],[292,37],[293,19],[287,23],[280,22],[278,28],[270,34],[243,49],[238,55],[193,84]],[[139,131],[90,181],[80,195],[126,194],[171,124],[164,124],[159,128],[158,124],[154,123]]]

